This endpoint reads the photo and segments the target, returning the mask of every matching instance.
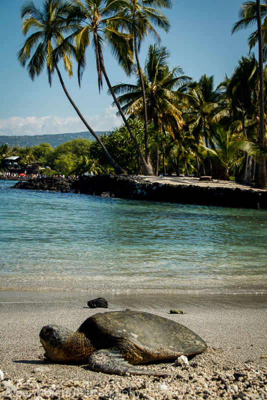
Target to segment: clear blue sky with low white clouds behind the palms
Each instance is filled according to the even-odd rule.
[[[38,4],[41,0],[35,2]],[[57,75],[51,88],[46,71],[32,82],[27,70],[17,61],[16,53],[25,40],[20,20],[23,3],[23,0],[0,0],[0,134],[86,130],[68,102]],[[184,73],[195,80],[204,73],[214,75],[215,84],[224,79],[225,73],[230,76],[238,59],[248,52],[249,31],[231,35],[241,3],[241,0],[174,0],[174,8],[164,11],[171,21],[171,32],[165,34],[159,31],[161,44],[171,51],[170,66],[180,65]],[[142,45],[142,64],[150,43],[154,43],[151,36]],[[108,49],[104,58],[112,84],[130,81]],[[101,94],[98,92],[93,52],[87,54],[87,68],[81,89],[76,73],[72,79],[63,75],[71,96],[95,130],[111,130],[119,126],[121,122],[116,110],[111,107],[112,98],[107,95],[106,85],[103,85]]]

